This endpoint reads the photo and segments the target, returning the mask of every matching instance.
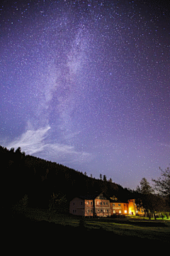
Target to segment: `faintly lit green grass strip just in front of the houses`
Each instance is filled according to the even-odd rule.
[[[80,216],[50,213],[48,210],[38,208],[27,208],[23,210],[23,214],[26,218],[36,220],[38,223],[46,221],[47,223],[60,225],[63,228],[79,228],[80,220],[82,220]],[[84,218],[83,226],[84,230],[89,232],[102,230],[107,234],[124,238],[145,238],[155,242],[170,242],[170,220],[168,219],[148,220],[137,216],[115,219]]]

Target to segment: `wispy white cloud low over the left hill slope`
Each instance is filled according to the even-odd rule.
[[[26,154],[33,155],[41,153],[42,156],[56,159],[55,161],[57,161],[57,158],[72,158],[75,162],[91,159],[91,154],[84,151],[77,151],[74,146],[60,143],[47,143],[49,130],[50,126],[41,127],[36,130],[28,129],[20,137],[6,145],[6,147],[8,149],[11,149],[11,147],[17,149],[20,146],[21,150],[25,151]]]

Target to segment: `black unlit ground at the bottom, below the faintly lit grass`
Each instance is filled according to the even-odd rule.
[[[49,223],[45,220],[36,221],[26,218],[21,213],[4,216],[1,232],[3,233],[3,246],[6,250],[25,254],[28,250],[37,253],[47,250],[70,252],[101,252],[108,254],[110,250],[127,253],[129,250],[135,254],[140,250],[157,252],[157,249],[169,247],[169,242],[161,242],[134,236],[115,235],[103,229],[87,230],[80,221],[79,227]],[[90,253],[91,254],[91,253]]]

